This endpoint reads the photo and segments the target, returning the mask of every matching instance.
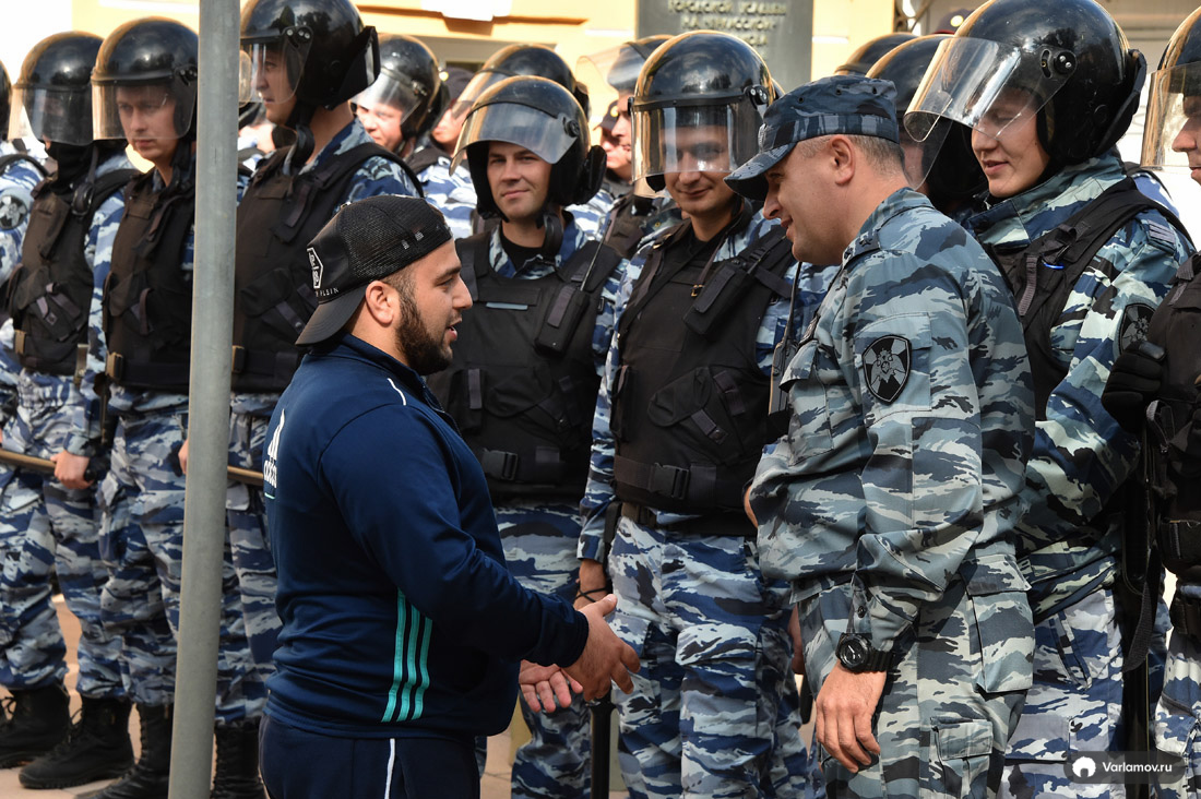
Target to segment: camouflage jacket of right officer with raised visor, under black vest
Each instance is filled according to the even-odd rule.
[[[1111,155],[1068,167],[976,214],[969,229],[985,245],[1030,242],[1124,177]],[[1146,333],[1151,310],[1190,252],[1160,214],[1143,211],[1101,248],[1051,330],[1066,376],[1052,389],[1046,419],[1038,423],[1022,491],[1029,509],[1017,536],[1035,618],[1112,583],[1121,518],[1101,512],[1121,501],[1115,497],[1131,472],[1139,442],[1101,407],[1101,389],[1123,339]]]

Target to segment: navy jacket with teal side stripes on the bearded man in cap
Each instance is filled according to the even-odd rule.
[[[519,660],[584,651],[584,615],[509,574],[484,472],[412,369],[336,336],[304,358],[267,436],[273,718],[355,738],[495,734]]]

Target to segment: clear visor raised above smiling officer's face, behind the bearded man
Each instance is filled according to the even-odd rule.
[[[587,132],[574,119],[551,117],[544,111],[514,102],[472,108],[459,133],[450,171],[467,159],[467,148],[477,142],[508,142],[530,150],[546,163],[558,163],[572,144]]]

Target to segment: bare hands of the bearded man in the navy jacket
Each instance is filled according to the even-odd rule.
[[[580,610],[588,620],[588,640],[574,663],[561,668],[521,662],[518,682],[521,696],[534,711],[550,712],[556,706],[566,708],[572,703],[572,693],[596,699],[609,692],[611,682],[616,682],[625,693],[634,688],[629,673],[638,672],[640,667],[638,655],[614,634],[605,621],[616,607],[617,597],[610,594]]]

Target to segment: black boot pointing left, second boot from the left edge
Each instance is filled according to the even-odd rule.
[[[133,765],[127,699],[83,697],[67,737],[20,770],[26,788],[70,788],[125,774]]]

